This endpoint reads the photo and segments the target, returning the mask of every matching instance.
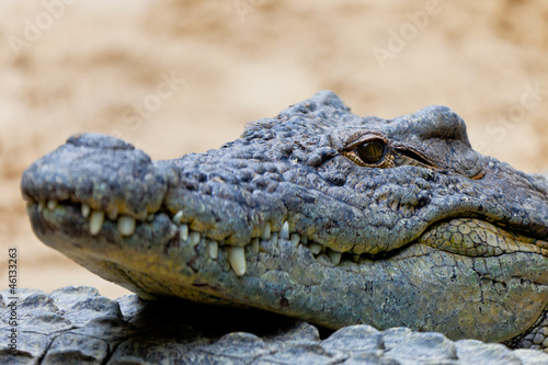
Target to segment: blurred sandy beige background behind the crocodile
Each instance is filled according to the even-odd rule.
[[[19,180],[77,132],[153,159],[217,148],[322,89],[358,115],[456,111],[472,146],[548,168],[543,0],[0,0],[0,288],[126,292],[42,244]]]

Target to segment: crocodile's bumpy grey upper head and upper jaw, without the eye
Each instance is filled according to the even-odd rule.
[[[342,152],[364,130],[393,150],[412,147],[411,157],[435,169],[356,166]],[[182,212],[190,229],[231,246],[248,244],[266,226],[281,231],[288,221],[292,232],[332,249],[377,253],[459,216],[548,236],[546,182],[473,151],[464,122],[449,109],[363,118],[327,91],[277,119],[250,124],[219,150],[178,160],[151,161],[113,137],[76,135],[24,172],[22,192],[43,206],[81,204],[94,221],[102,214],[123,217],[123,231],[130,231],[132,219]]]

